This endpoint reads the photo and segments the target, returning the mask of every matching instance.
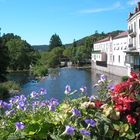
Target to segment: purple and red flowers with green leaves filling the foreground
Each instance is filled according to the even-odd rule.
[[[98,96],[86,96],[86,87],[70,100],[59,104],[52,98],[44,101],[46,90],[0,100],[0,138],[2,140],[139,140],[140,139],[140,75],[115,86],[104,75],[95,85]]]

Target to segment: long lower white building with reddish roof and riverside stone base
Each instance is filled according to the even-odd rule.
[[[125,58],[128,46],[128,32],[122,32],[99,40],[93,46],[92,68],[119,76],[127,75]]]

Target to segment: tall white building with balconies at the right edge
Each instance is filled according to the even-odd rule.
[[[128,49],[126,51],[126,65],[129,69],[140,70],[140,2],[134,13],[128,18]]]

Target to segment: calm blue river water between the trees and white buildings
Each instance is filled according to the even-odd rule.
[[[32,91],[45,88],[47,90],[47,99],[54,97],[62,101],[65,98],[64,90],[66,85],[70,85],[72,90],[79,90],[82,86],[86,86],[88,95],[96,94],[93,85],[99,80],[101,74],[103,72],[92,69],[61,68],[53,71],[37,83],[31,81],[33,77],[28,72],[10,73],[8,79],[21,84],[21,94],[29,95]],[[121,80],[119,76],[104,74],[108,80],[112,80],[112,84],[119,83]],[[78,96],[78,93],[73,95],[74,98]]]

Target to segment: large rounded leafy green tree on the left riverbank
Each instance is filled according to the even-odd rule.
[[[14,34],[4,34],[2,41],[8,48],[10,70],[29,69],[39,55],[25,40]],[[26,61],[25,61],[26,60]]]

